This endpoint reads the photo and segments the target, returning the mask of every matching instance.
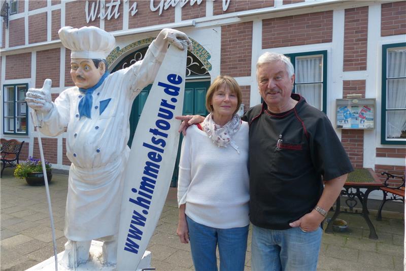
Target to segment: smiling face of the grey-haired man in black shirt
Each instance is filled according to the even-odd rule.
[[[258,88],[268,109],[274,113],[285,112],[290,101],[295,76],[289,78],[282,61],[262,64],[257,70]]]

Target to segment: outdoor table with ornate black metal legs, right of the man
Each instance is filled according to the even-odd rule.
[[[372,168],[357,168],[354,172],[350,173],[348,175],[346,183],[344,184],[343,190],[340,193],[340,196],[342,195],[348,196],[348,198],[345,200],[345,203],[349,207],[350,212],[340,210],[341,200],[339,196],[335,201],[334,215],[328,222],[325,232],[327,233],[333,232],[333,222],[339,216],[340,213],[350,213],[361,215],[364,218],[366,224],[369,227],[369,239],[378,239],[375,227],[368,217],[369,212],[367,208],[367,201],[369,193],[373,190],[379,190],[381,186],[382,182],[378,179]],[[365,192],[360,191],[361,188],[366,189],[366,191]],[[355,197],[359,199],[362,205],[361,213],[358,213],[357,210],[355,212],[353,211],[353,208],[358,204]]]

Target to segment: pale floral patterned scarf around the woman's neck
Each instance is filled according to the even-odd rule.
[[[221,126],[214,122],[213,113],[210,113],[202,122],[202,128],[217,146],[226,148],[229,144],[238,153],[240,153],[240,150],[232,140],[232,137],[240,129],[241,123],[240,116],[238,114],[234,114],[229,122],[227,122],[224,126]]]

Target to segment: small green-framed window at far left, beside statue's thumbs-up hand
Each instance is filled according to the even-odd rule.
[[[5,134],[28,134],[25,92],[28,84],[4,85],[3,132]]]

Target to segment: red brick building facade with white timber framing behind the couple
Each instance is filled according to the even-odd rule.
[[[1,135],[25,141],[22,159],[39,157],[25,91],[41,88],[50,78],[55,99],[73,86],[71,52],[62,47],[59,28],[94,25],[111,32],[117,41],[107,59],[113,72],[141,59],[159,30],[169,27],[185,32],[194,46],[188,52],[185,114],[206,113],[206,89],[220,74],[240,84],[242,110],[261,103],[256,60],[266,51],[283,53],[295,66],[294,91],[340,127],[336,132],[353,165],[404,176],[406,1],[7,0],[3,7],[5,3]],[[147,95],[148,89],[134,102],[132,131]],[[347,97],[352,97],[347,106],[347,101],[337,101]],[[42,140],[45,158],[63,170],[70,165],[65,140],[64,133]]]

